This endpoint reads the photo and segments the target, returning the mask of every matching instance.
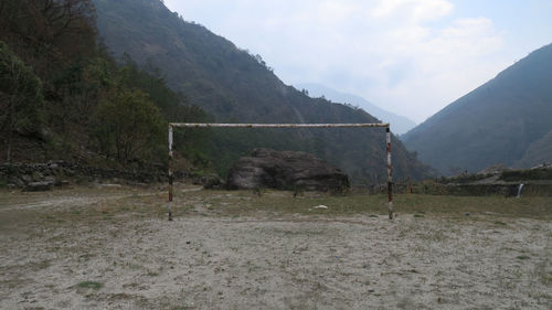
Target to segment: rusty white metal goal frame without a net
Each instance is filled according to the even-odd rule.
[[[391,165],[391,130],[390,124],[198,124],[169,122],[169,221],[172,221],[172,142],[176,127],[185,128],[385,128],[386,163],[388,163],[388,196],[389,218],[393,220],[393,168]]]

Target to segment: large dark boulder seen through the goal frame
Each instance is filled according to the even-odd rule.
[[[237,160],[229,172],[227,186],[342,192],[349,178],[328,162],[305,152],[255,149]]]

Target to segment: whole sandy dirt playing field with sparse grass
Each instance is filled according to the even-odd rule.
[[[552,309],[552,199],[161,190],[0,191],[0,309]]]

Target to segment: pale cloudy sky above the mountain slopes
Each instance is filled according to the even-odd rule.
[[[552,0],[164,2],[288,85],[320,83],[417,122],[552,43]]]

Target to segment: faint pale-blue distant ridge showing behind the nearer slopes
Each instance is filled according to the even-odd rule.
[[[325,97],[335,103],[348,104],[352,106],[360,107],[368,111],[370,115],[374,116],[378,119],[381,119],[383,122],[391,124],[391,131],[395,135],[403,135],[416,127],[416,122],[414,120],[396,115],[394,113],[390,113],[380,108],[379,106],[370,103],[369,100],[348,93],[338,92],[330,87],[327,87],[317,83],[300,83],[295,85],[298,89],[306,89],[308,95],[312,98]]]

